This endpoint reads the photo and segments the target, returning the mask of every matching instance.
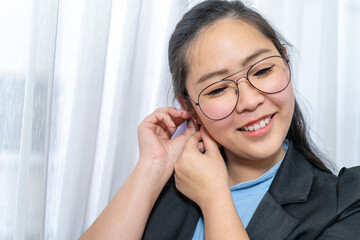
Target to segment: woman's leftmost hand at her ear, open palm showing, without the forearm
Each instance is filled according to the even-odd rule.
[[[190,118],[190,113],[172,107],[159,108],[146,117],[138,127],[139,162],[158,168],[159,177],[167,181],[174,170],[187,139],[195,132],[190,121],[183,135],[171,139],[176,128]],[[164,183],[165,184],[165,183]]]

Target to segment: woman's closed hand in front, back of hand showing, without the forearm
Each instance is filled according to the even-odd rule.
[[[202,209],[222,192],[229,192],[224,159],[204,127],[187,141],[175,165],[175,182],[176,188]]]

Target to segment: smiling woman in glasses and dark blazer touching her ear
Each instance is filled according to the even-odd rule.
[[[186,13],[169,44],[183,110],[140,124],[138,164],[83,239],[356,239],[360,168],[316,154],[286,46],[241,2]]]

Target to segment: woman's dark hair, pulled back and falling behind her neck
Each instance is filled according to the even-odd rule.
[[[190,44],[201,30],[227,18],[238,19],[255,27],[273,42],[282,57],[287,58],[285,46],[290,46],[290,44],[255,10],[245,6],[240,1],[204,1],[183,16],[170,38],[168,57],[175,97],[181,96],[187,100],[185,81],[189,66],[186,54]],[[308,135],[304,117],[296,100],[287,138],[315,165],[328,170]]]

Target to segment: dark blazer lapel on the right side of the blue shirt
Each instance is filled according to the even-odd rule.
[[[300,224],[300,220],[283,205],[306,202],[312,181],[311,163],[290,142],[269,191],[246,228],[250,239],[285,239]]]

